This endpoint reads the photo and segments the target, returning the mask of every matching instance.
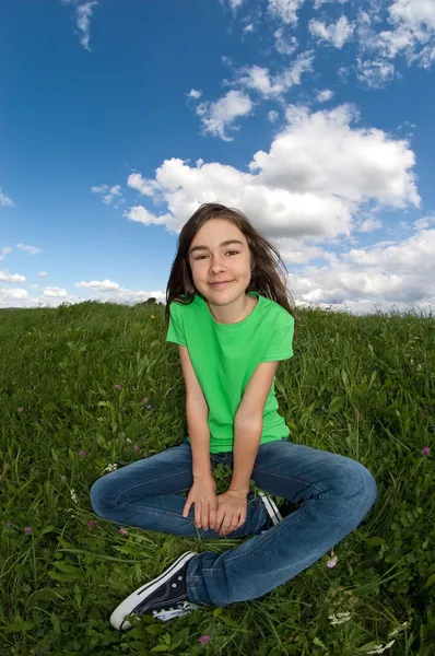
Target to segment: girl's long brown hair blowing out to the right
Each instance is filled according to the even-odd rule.
[[[197,232],[210,219],[226,219],[245,235],[254,267],[246,291],[258,292],[262,296],[275,301],[296,320],[294,302],[286,285],[289,271],[277,248],[251,225],[239,210],[207,202],[190,216],[179,234],[177,255],[166,288],[166,321],[169,320],[169,305],[173,301],[187,305],[192,302],[195,294],[199,293],[193,285],[189,248]]]

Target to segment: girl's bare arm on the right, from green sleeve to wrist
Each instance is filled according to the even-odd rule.
[[[261,362],[254,372],[234,419],[233,477],[228,491],[248,493],[262,433],[262,414],[279,362]]]

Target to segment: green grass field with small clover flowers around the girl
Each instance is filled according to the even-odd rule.
[[[0,311],[0,654],[434,656],[435,321],[418,314],[305,311],[279,370],[291,438],[360,460],[378,483],[333,554],[258,600],[110,628],[115,606],[184,551],[237,544],[120,532],[91,511],[109,465],[186,434],[163,313]],[[216,472],[220,491],[228,476]]]

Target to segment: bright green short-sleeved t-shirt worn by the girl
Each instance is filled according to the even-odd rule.
[[[234,418],[245,388],[260,362],[293,355],[294,319],[281,305],[261,296],[252,312],[237,324],[219,324],[202,296],[189,305],[171,303],[166,340],[187,347],[209,406],[210,453],[233,450]],[[277,412],[274,380],[263,411],[260,444],[290,435]]]

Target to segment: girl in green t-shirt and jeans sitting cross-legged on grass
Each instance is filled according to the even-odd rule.
[[[236,210],[203,204],[179,235],[166,292],[167,341],[179,348],[187,437],[108,473],[91,489],[97,515],[184,537],[252,536],[222,554],[184,553],[118,606],[166,621],[201,606],[255,599],[315,563],[375,502],[360,462],[294,444],[278,413],[274,376],[293,355],[294,317],[277,249]],[[212,469],[232,465],[216,495]],[[302,502],[282,517],[273,500]],[[186,497],[179,493],[190,489]]]

